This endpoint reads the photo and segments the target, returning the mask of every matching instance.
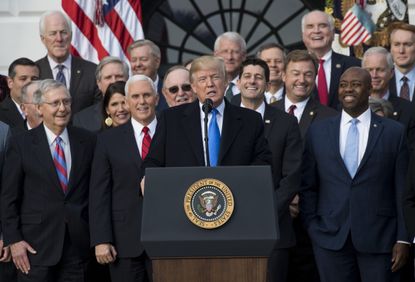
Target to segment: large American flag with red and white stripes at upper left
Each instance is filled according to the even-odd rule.
[[[128,46],[144,38],[140,0],[62,0],[62,8],[72,21],[71,52],[83,59],[128,62]]]

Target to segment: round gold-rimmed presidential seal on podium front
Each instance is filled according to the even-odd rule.
[[[193,183],[184,196],[184,211],[189,220],[205,229],[225,224],[232,216],[234,200],[225,183],[205,178]]]

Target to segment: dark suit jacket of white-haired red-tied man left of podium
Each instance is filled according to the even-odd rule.
[[[92,247],[112,243],[122,258],[143,252],[141,164],[131,122],[98,135],[89,197]]]

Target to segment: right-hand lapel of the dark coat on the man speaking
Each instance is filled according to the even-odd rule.
[[[224,156],[231,147],[239,130],[242,127],[241,116],[235,112],[232,107],[233,106],[225,100],[225,111],[218,159],[219,164],[221,164]]]

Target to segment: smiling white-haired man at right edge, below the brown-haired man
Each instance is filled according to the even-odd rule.
[[[392,55],[383,47],[372,47],[366,50],[362,59],[362,67],[372,78],[370,97],[389,101],[393,106],[390,118],[399,121],[406,128],[406,136],[411,149],[415,146],[415,107],[407,100],[391,95],[389,84],[393,84]]]

